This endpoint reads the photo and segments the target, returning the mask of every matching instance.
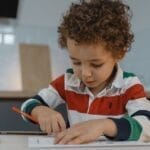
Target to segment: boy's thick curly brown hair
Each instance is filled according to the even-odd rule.
[[[102,43],[114,57],[124,56],[134,35],[130,31],[130,7],[121,0],[80,0],[72,3],[58,27],[59,44],[67,38],[78,44]]]

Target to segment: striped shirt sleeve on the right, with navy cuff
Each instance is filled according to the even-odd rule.
[[[118,129],[114,140],[150,141],[150,101],[146,99],[142,84],[132,83],[126,97],[127,114],[120,118],[111,118]],[[133,88],[136,87],[136,88]]]

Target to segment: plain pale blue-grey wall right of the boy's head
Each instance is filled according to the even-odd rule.
[[[135,42],[124,59],[123,68],[134,72],[150,91],[150,0],[126,0],[130,5]]]

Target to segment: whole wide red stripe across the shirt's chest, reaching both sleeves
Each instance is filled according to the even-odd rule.
[[[60,96],[67,102],[68,108],[86,113],[88,110],[89,96],[64,90],[64,76],[52,83]],[[116,96],[104,96],[96,98],[89,109],[89,114],[120,115],[126,113],[125,106],[129,100],[145,97],[144,87],[136,84],[126,90],[125,93]]]

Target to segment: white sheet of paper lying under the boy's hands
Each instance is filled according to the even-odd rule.
[[[28,137],[28,147],[29,148],[48,148],[48,147],[55,147],[55,148],[65,148],[65,147],[130,147],[130,146],[150,146],[150,143],[144,142],[136,142],[136,141],[123,141],[123,142],[113,142],[108,140],[98,140],[95,142],[91,142],[88,144],[79,144],[79,145],[60,145],[54,144],[54,138],[52,136],[32,136]]]

